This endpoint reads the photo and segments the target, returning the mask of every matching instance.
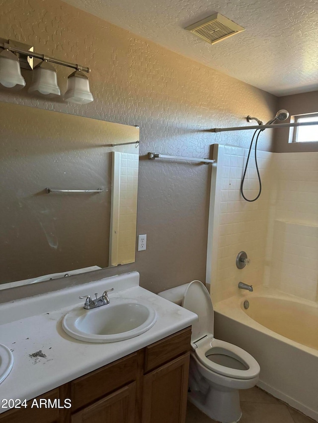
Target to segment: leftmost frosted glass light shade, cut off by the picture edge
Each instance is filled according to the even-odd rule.
[[[0,54],[0,84],[7,88],[15,87],[15,89],[25,86],[19,59],[8,50],[3,50]]]

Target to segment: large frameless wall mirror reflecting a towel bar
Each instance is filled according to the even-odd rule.
[[[135,261],[139,128],[9,103],[0,116],[0,289]]]

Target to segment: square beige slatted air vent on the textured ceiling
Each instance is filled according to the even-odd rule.
[[[207,18],[190,25],[185,29],[193,32],[193,34],[196,34],[198,37],[203,38],[203,40],[210,44],[218,43],[225,38],[238,34],[241,31],[245,31],[244,28],[225,16],[220,15],[220,13],[208,16]]]

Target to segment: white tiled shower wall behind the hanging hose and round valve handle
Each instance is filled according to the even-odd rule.
[[[219,145],[214,150],[217,165],[212,181],[217,181],[214,216],[210,218],[209,240],[213,253],[208,257],[207,282],[211,282],[214,302],[222,301],[238,293],[238,283],[253,286],[263,282],[264,257],[266,253],[267,225],[271,186],[271,159],[273,153],[258,152],[258,167],[262,177],[262,193],[254,202],[245,201],[240,195],[240,183],[247,160],[248,149]],[[243,185],[244,195],[252,199],[258,194],[255,159],[251,154]],[[220,193],[220,194],[219,194]],[[214,220],[214,231],[211,230]],[[247,252],[250,265],[239,270],[236,257],[239,251]]]

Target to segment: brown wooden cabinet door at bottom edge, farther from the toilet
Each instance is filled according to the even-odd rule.
[[[71,423],[135,423],[136,382],[71,417]]]

